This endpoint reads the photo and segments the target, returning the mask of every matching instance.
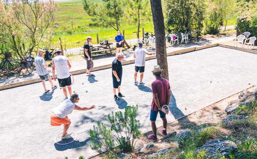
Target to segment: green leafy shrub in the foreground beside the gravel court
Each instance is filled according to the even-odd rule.
[[[99,153],[132,152],[135,148],[135,139],[141,135],[140,122],[136,120],[138,105],[128,106],[125,112],[112,112],[105,118],[106,123],[98,123],[90,129],[91,149]],[[117,146],[117,148],[116,148]],[[109,155],[110,156],[110,155]]]

